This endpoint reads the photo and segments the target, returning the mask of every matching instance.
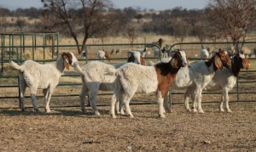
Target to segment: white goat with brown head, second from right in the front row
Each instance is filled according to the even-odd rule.
[[[223,69],[223,65],[230,67],[230,58],[224,50],[219,49],[218,53],[215,53],[208,61],[201,60],[191,63],[189,67],[181,68],[177,72],[176,86],[187,87],[184,94],[186,110],[190,111],[187,103],[189,103],[189,94],[193,93],[193,98],[195,98],[193,100],[197,102],[198,112],[204,113],[201,109],[202,89],[211,82],[216,70]],[[194,102],[192,106],[193,112],[197,112],[195,107]]]

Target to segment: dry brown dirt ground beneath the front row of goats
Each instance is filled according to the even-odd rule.
[[[90,107],[82,115],[79,107],[51,107],[47,114],[17,105],[0,102],[0,151],[256,151],[255,102],[232,102],[232,113],[202,104],[205,114],[173,104],[166,119],[158,118],[155,103],[131,105],[133,119],[112,119],[108,105],[98,107],[100,116]]]

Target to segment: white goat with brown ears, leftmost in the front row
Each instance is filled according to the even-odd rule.
[[[55,64],[40,65],[35,61],[26,60],[22,65],[17,65],[14,61],[10,62],[10,65],[15,70],[20,70],[19,80],[20,80],[20,104],[21,110],[25,110],[24,107],[24,93],[26,87],[30,88],[32,105],[34,110],[39,111],[38,105],[36,103],[37,90],[43,89],[44,100],[45,100],[45,110],[49,110],[49,101],[55,87],[59,83],[59,79],[63,74],[65,68],[69,70],[69,65],[78,62],[78,59],[73,55],[73,53],[62,53],[61,57],[57,59]]]

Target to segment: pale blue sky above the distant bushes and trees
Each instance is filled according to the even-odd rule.
[[[182,7],[187,9],[205,8],[208,0],[111,0],[114,8],[153,8],[154,10],[165,10]],[[42,8],[41,0],[0,0],[0,7],[14,10],[16,8]]]

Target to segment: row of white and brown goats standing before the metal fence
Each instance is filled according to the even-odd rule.
[[[186,110],[204,113],[201,107],[202,91],[222,90],[219,110],[224,111],[225,102],[226,111],[231,112],[228,93],[235,86],[240,70],[247,70],[250,66],[244,54],[236,53],[230,57],[222,49],[213,51],[207,60],[193,63],[189,63],[186,53],[182,50],[172,51],[167,61],[162,60],[154,65],[145,65],[138,51],[131,51],[127,60],[132,63],[108,65],[101,61],[90,61],[84,67],[80,67],[78,59],[73,53],[68,52],[62,53],[55,64],[40,65],[32,60],[26,60],[22,65],[18,65],[11,61],[10,66],[19,70],[21,110],[25,110],[24,94],[26,87],[29,87],[33,109],[39,111],[36,103],[36,93],[39,88],[43,89],[45,110],[50,112],[51,95],[65,68],[69,70],[69,66],[73,66],[81,76],[82,89],[79,97],[83,113],[86,112],[85,96],[88,96],[95,114],[100,115],[96,108],[96,95],[99,90],[113,91],[110,110],[113,118],[116,117],[115,112],[133,117],[129,104],[135,93],[155,93],[158,114],[161,118],[165,118],[165,113],[171,112],[166,100],[171,85],[186,88],[184,93]],[[189,97],[192,99],[192,110],[189,107]]]

